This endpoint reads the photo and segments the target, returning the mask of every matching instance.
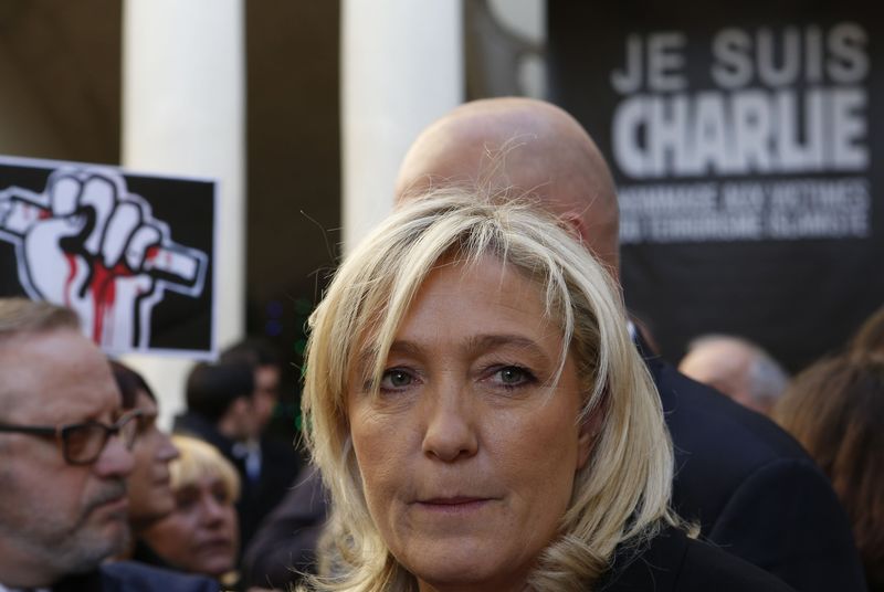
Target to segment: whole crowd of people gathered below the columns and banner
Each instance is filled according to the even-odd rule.
[[[194,366],[167,434],[73,313],[0,299],[0,592],[884,590],[884,308],[794,378],[739,336],[680,372],[544,102],[428,127],[396,202],[311,317],[305,466],[260,341]]]

